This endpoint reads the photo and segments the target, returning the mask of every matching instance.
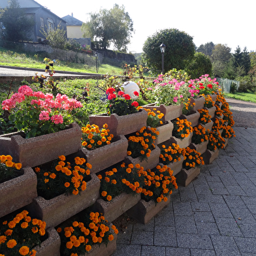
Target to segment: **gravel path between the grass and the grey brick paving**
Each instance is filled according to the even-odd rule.
[[[256,103],[226,99],[234,118],[234,127],[256,128]]]

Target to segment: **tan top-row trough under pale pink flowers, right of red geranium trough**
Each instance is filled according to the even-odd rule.
[[[153,110],[154,108],[156,110],[159,110],[161,113],[163,113],[165,116],[163,116],[162,121],[171,121],[175,118],[178,118],[182,114],[182,108],[183,104],[180,105],[169,105],[165,106],[165,104],[161,104],[160,106],[155,106],[155,103],[148,104],[143,106],[144,108],[148,108],[150,110]]]

